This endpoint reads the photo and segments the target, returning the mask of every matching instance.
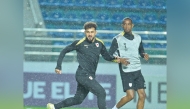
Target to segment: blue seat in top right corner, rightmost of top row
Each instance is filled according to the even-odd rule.
[[[153,0],[154,9],[166,9],[166,1],[164,0]]]

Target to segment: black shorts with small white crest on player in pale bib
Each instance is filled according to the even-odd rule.
[[[146,89],[145,80],[141,73],[141,70],[129,73],[121,72],[120,74],[124,92],[126,92],[129,89]]]

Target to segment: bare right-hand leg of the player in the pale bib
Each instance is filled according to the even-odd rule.
[[[144,89],[138,89],[137,90],[139,99],[138,99],[138,103],[137,103],[137,109],[143,109],[144,108],[144,101],[145,101],[145,90]]]

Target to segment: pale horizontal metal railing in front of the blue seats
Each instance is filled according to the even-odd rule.
[[[81,30],[73,30],[73,29],[45,29],[45,28],[24,28],[23,29],[24,33],[27,32],[34,32],[34,33],[40,33],[40,32],[71,32],[75,33],[81,33],[84,32],[84,29]],[[113,31],[113,30],[97,30],[97,33],[120,33],[121,31]],[[167,32],[155,32],[155,31],[133,31],[134,33],[137,34],[162,34],[162,35],[167,35]],[[30,35],[31,36],[31,35]],[[77,38],[53,38],[53,37],[46,37],[46,36],[39,36],[39,35],[32,35],[33,37],[28,37],[25,35],[25,41],[74,41]],[[110,39],[102,39],[104,42],[111,42],[112,38]],[[143,40],[143,43],[167,43],[166,40]],[[25,44],[25,47],[30,47],[30,48],[64,48],[63,45],[42,45],[42,44]],[[109,49],[109,47],[107,47]],[[166,48],[145,48],[145,50],[158,50],[158,51],[166,51]],[[44,51],[25,51],[24,55],[59,55],[59,52],[44,52]],[[68,53],[67,55],[76,55],[76,53]],[[150,58],[167,58],[166,55],[150,55]]]

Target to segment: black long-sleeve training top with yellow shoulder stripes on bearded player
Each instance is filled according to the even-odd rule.
[[[61,64],[65,54],[73,50],[76,50],[77,52],[77,60],[79,62],[78,71],[80,71],[80,73],[95,75],[100,54],[107,61],[116,61],[115,57],[110,55],[106,50],[102,40],[95,38],[94,42],[89,42],[88,39],[83,38],[74,41],[61,51],[57,60],[56,69],[61,70]],[[78,74],[78,71],[77,75],[81,75]]]

